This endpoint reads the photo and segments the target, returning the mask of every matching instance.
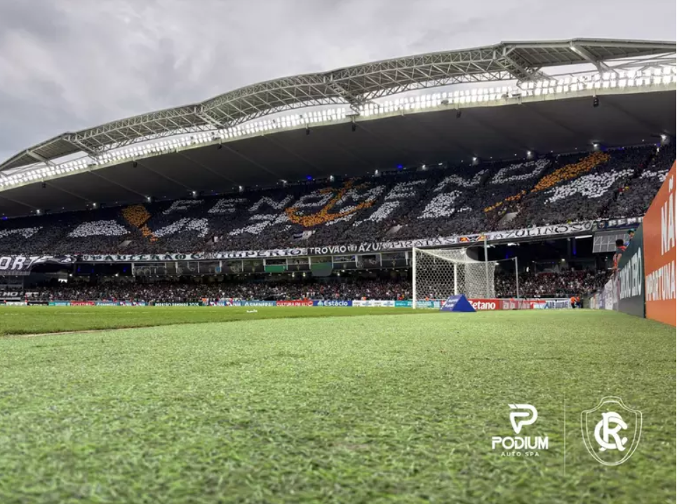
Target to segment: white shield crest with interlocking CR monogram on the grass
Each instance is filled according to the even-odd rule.
[[[643,414],[620,397],[603,397],[593,409],[582,411],[584,446],[603,465],[620,465],[635,453],[643,430]]]

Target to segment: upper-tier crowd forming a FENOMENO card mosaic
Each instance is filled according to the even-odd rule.
[[[633,147],[8,219],[0,253],[268,250],[638,217],[675,158],[672,144]]]

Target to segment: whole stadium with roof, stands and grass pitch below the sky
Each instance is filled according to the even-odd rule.
[[[502,42],[11,156],[0,502],[675,500],[676,75]]]

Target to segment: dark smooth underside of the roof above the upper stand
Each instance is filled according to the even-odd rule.
[[[616,89],[616,91],[619,91]],[[660,135],[676,136],[676,88],[600,90],[575,97],[502,100],[460,109],[394,113],[375,119],[311,128],[289,128],[231,142],[208,142],[163,151],[135,161],[72,172],[0,191],[0,215],[22,217],[36,210],[53,213],[191,197],[192,191],[236,193],[256,186],[281,186],[281,180],[305,181],[365,177],[399,165],[469,163],[520,159],[527,151],[550,155],[603,147],[657,144]],[[543,97],[542,97],[543,98]],[[0,227],[3,222],[0,221]]]

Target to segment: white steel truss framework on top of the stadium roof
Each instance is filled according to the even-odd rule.
[[[543,69],[612,62],[643,64],[643,57],[671,57],[676,42],[571,39],[502,42],[495,46],[384,60],[245,86],[210,100],[66,132],[29,147],[0,165],[0,172],[75,154],[97,156],[149,139],[229,128],[281,111],[342,104],[358,110],[380,97],[409,90],[545,78]],[[629,61],[630,60],[630,61]],[[633,61],[634,60],[634,61]],[[674,60],[675,61],[675,60]]]

